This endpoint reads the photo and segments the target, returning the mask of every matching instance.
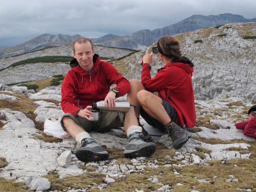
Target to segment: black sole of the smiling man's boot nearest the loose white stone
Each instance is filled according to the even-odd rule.
[[[76,150],[76,157],[82,162],[91,162],[91,161],[104,161],[109,157],[108,152],[93,152],[88,149],[79,149]]]

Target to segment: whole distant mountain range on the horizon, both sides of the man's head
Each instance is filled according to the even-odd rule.
[[[92,38],[91,40],[97,45],[141,50],[152,45],[152,43],[156,42],[163,35],[174,35],[201,28],[237,22],[256,22],[256,18],[245,19],[243,16],[233,14],[220,14],[216,16],[193,15],[176,24],[160,29],[139,30],[126,36],[108,34],[100,38]],[[17,46],[0,49],[0,58],[24,54],[42,48],[70,45],[78,37],[80,37],[80,35],[42,34]]]

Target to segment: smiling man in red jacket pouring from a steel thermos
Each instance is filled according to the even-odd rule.
[[[73,42],[74,59],[71,70],[66,74],[61,94],[61,107],[65,114],[61,125],[82,147],[76,149],[76,157],[83,162],[107,160],[108,152],[93,140],[88,132],[104,132],[124,126],[129,143],[124,151],[126,158],[151,156],[156,145],[147,142],[138,126],[135,107],[129,112],[100,112],[98,121],[92,121],[92,104],[104,100],[105,107],[112,110],[116,106],[116,97],[130,91],[130,83],[112,64],[100,60],[94,54],[92,41],[80,37]],[[116,84],[110,90],[110,86]],[[130,92],[128,93],[128,95]]]

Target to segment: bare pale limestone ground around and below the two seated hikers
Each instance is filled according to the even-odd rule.
[[[0,86],[0,99],[9,102],[19,100],[20,95],[27,95],[29,98],[37,99],[34,101],[38,108],[34,111],[36,114],[37,122],[45,122],[48,119],[56,119],[61,116],[62,110],[60,104],[54,104],[47,102],[46,99],[52,98],[60,101],[60,86],[50,86],[38,93],[30,93],[26,90],[26,87],[7,87]],[[120,98],[125,100],[125,97]],[[242,106],[228,106],[231,102],[237,102],[243,104]],[[204,165],[210,166],[212,160],[218,160],[225,164],[226,161],[232,159],[248,159],[251,157],[251,153],[240,152],[237,150],[230,150],[230,148],[241,148],[248,150],[250,147],[246,143],[232,143],[232,144],[208,144],[193,139],[196,137],[203,138],[217,138],[219,140],[234,140],[242,139],[248,141],[255,141],[253,138],[243,135],[241,130],[236,130],[234,123],[241,120],[247,120],[244,110],[250,108],[250,103],[245,103],[241,98],[229,98],[225,101],[211,100],[200,101],[196,100],[196,115],[197,122],[200,122],[202,118],[212,117],[210,124],[215,125],[216,129],[210,129],[206,126],[198,126],[201,131],[190,133],[192,138],[188,140],[186,144],[179,150],[172,148],[172,141],[166,134],[152,135],[154,142],[165,146],[169,150],[175,152],[175,156],[166,155],[166,159],[161,166],[170,167],[173,166],[173,172],[177,177],[182,175],[175,170],[184,168],[187,165]],[[2,168],[0,171],[0,177],[5,179],[13,179],[18,182],[26,182],[26,185],[30,190],[43,191],[50,188],[50,182],[42,176],[47,175],[49,172],[56,172],[60,175],[60,178],[68,176],[79,175],[87,172],[86,169],[81,168],[81,164],[85,166],[96,166],[95,172],[105,174],[103,183],[96,184],[98,189],[104,189],[111,183],[116,182],[116,178],[126,177],[127,174],[136,174],[137,172],[144,172],[145,168],[157,168],[159,167],[158,159],[149,161],[147,158],[137,158],[129,160],[128,164],[116,163],[117,160],[107,160],[101,162],[80,162],[74,155],[74,150],[78,147],[75,140],[72,138],[64,138],[62,142],[49,143],[38,139],[40,135],[38,129],[36,129],[34,122],[28,118],[24,113],[10,110],[8,108],[1,111],[1,122],[4,123],[2,130],[0,130],[0,157],[5,158],[8,165]],[[240,114],[239,118],[237,114]],[[56,121],[51,121],[56,124]],[[140,122],[145,124],[145,121],[140,118]],[[145,125],[145,128],[151,132],[152,128]],[[102,133],[91,133],[99,144],[106,146],[107,148],[124,149],[128,144],[128,139],[124,138],[124,132],[122,128]],[[198,149],[204,148],[203,158],[195,154]],[[256,176],[256,175],[255,175]],[[158,176],[149,177],[148,180],[159,184],[157,191],[168,192],[173,190],[168,184],[159,182]],[[198,179],[194,178],[198,182],[210,182],[208,178]],[[214,178],[213,178],[214,179]],[[226,182],[237,182],[238,180],[232,176],[227,176]],[[181,183],[177,183],[182,185]],[[67,189],[69,192],[81,192],[89,191],[95,188],[94,186],[88,186],[83,189]],[[143,192],[134,188],[136,192]],[[240,189],[243,191],[251,191],[250,189]],[[57,192],[55,190],[54,192]],[[191,189],[191,192],[197,192],[196,189]]]

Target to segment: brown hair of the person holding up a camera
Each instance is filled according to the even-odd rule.
[[[158,51],[167,58],[179,58],[182,54],[180,49],[170,48],[171,45],[179,45],[173,36],[162,36],[157,43]]]

